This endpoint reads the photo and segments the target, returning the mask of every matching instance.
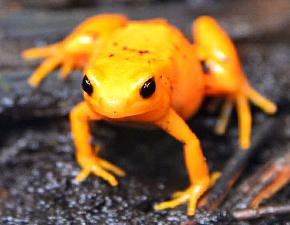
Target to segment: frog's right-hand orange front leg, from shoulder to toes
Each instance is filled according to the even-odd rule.
[[[190,180],[190,186],[185,191],[178,192],[170,201],[155,205],[155,209],[174,208],[188,202],[187,214],[194,215],[198,199],[210,186],[210,176],[200,142],[173,109],[170,109],[167,115],[156,121],[155,124],[184,143],[185,164]]]

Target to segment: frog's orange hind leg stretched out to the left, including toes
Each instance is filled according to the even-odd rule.
[[[29,84],[33,87],[38,86],[47,74],[59,65],[62,78],[67,78],[73,69],[83,69],[103,40],[126,24],[127,17],[118,14],[93,16],[82,22],[62,41],[47,47],[23,51],[24,59],[45,58],[29,78]]]

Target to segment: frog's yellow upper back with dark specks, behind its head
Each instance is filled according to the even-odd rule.
[[[114,32],[103,45],[100,53],[114,53],[135,59],[146,55],[158,60],[172,55],[172,30],[165,20],[132,21]],[[120,56],[120,55],[119,55]],[[138,57],[136,57],[138,56]]]

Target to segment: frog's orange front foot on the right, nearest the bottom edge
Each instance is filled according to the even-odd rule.
[[[188,202],[187,215],[192,216],[195,213],[198,199],[209,188],[209,182],[202,184],[194,184],[187,188],[185,191],[177,192],[177,197],[172,200],[161,202],[154,206],[155,210],[164,210],[175,208],[185,202]]]

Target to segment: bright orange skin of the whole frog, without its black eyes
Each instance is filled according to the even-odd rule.
[[[188,202],[188,215],[193,215],[198,199],[209,188],[210,176],[200,142],[184,120],[209,95],[226,97],[217,126],[220,133],[236,102],[240,146],[250,146],[249,100],[267,113],[276,111],[275,104],[249,85],[233,43],[213,18],[199,17],[193,24],[193,36],[194,44],[162,19],[128,21],[122,15],[106,14],[84,21],[61,42],[23,52],[25,58],[46,57],[29,78],[31,86],[38,86],[61,65],[64,78],[72,69],[82,69],[92,88],[70,113],[76,157],[82,167],[78,181],[94,173],[115,186],[118,182],[110,172],[125,174],[95,154],[89,143],[89,121],[153,124],[184,143],[190,179],[184,192],[155,209]],[[150,78],[155,81],[155,92],[144,98],[140,89]]]

